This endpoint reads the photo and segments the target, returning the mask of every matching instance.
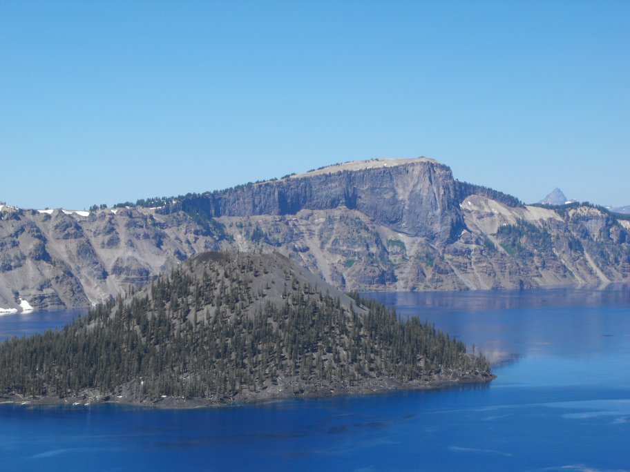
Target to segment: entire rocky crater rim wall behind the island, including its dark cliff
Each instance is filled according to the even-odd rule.
[[[0,211],[0,308],[85,306],[204,250],[283,253],[345,290],[630,280],[630,221],[524,206],[430,159],[366,161],[162,208]]]

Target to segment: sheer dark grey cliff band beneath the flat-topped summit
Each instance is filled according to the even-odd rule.
[[[318,173],[240,186],[184,199],[173,210],[208,217],[296,215],[301,210],[347,208],[414,237],[452,242],[464,228],[450,168],[430,159]]]

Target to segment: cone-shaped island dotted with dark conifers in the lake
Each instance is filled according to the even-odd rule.
[[[483,355],[278,254],[202,253],[57,331],[0,345],[0,397],[166,407],[429,389]]]

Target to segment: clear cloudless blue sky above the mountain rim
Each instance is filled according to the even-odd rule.
[[[630,1],[0,1],[0,201],[352,159],[630,204]]]

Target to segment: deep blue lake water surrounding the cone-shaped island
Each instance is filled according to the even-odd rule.
[[[496,362],[484,386],[220,409],[0,405],[0,470],[630,470],[630,288],[378,293]],[[0,317],[0,340],[76,312]]]

